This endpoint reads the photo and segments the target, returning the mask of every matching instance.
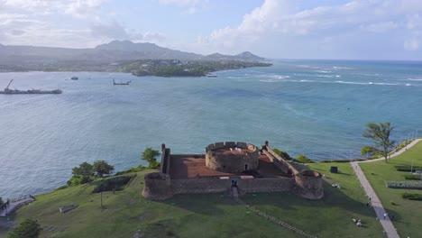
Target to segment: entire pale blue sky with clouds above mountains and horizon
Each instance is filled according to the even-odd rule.
[[[0,0],[0,43],[153,42],[202,54],[422,60],[419,0]]]

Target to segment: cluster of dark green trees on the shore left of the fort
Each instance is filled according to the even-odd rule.
[[[113,170],[115,167],[105,160],[96,160],[93,164],[83,162],[72,169],[72,178],[68,181],[68,185],[84,184],[90,182],[92,177],[103,178],[104,175],[110,175]]]

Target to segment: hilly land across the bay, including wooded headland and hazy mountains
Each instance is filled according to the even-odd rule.
[[[97,71],[136,76],[201,77],[226,69],[271,66],[245,51],[237,55],[200,55],[151,43],[111,41],[93,49],[0,45],[0,72]]]

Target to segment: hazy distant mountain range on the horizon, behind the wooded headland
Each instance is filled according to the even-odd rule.
[[[265,60],[247,51],[235,56],[219,53],[203,56],[191,52],[171,50],[153,43],[133,43],[132,41],[111,41],[98,45],[94,49],[6,46],[0,44],[0,65],[57,66],[75,62],[104,64],[134,59]]]

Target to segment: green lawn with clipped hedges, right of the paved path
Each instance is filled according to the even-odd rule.
[[[403,199],[402,193],[417,193],[422,195],[421,190],[387,188],[385,181],[405,180],[404,175],[409,172],[398,171],[394,166],[408,165],[413,160],[414,166],[422,166],[422,142],[408,149],[405,153],[394,157],[388,163],[385,160],[361,163],[360,166],[370,181],[382,206],[390,215],[394,215],[394,226],[401,237],[422,237],[420,221],[422,221],[422,201]]]

